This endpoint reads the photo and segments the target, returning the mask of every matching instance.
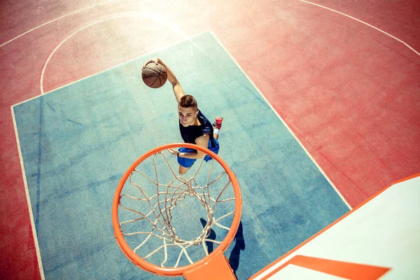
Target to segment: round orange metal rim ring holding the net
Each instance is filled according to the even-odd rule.
[[[229,176],[230,181],[232,182],[233,190],[235,193],[235,214],[233,216],[232,225],[230,226],[230,230],[228,231],[228,234],[226,235],[225,239],[217,246],[217,248],[211,252],[206,257],[202,258],[201,260],[198,260],[197,262],[194,262],[191,265],[185,265],[183,267],[160,267],[158,265],[153,265],[150,262],[147,262],[146,260],[142,259],[137,253],[134,253],[132,251],[132,248],[128,246],[127,242],[125,241],[123,237],[123,233],[121,232],[120,228],[120,222],[118,221],[118,204],[120,202],[120,195],[121,191],[123,190],[125,181],[127,180],[128,176],[132,173],[132,171],[146,158],[150,157],[151,155],[154,155],[155,153],[158,153],[160,151],[167,150],[169,148],[177,148],[177,147],[185,147],[185,148],[191,148],[194,150],[201,151],[203,153],[207,153],[207,155],[210,155],[211,158],[216,160],[222,167],[225,169],[226,173]],[[127,256],[129,260],[131,260],[134,265],[139,266],[141,269],[144,269],[148,272],[159,274],[159,275],[167,275],[167,276],[181,276],[183,275],[183,272],[194,270],[199,268],[200,266],[206,264],[216,256],[219,252],[225,251],[232,240],[235,237],[235,234],[239,228],[239,222],[241,221],[241,211],[242,211],[242,198],[241,198],[241,190],[239,188],[239,183],[237,180],[237,177],[235,176],[235,173],[232,172],[232,169],[222,160],[221,157],[216,155],[216,153],[210,151],[208,148],[203,148],[202,146],[198,146],[195,144],[188,144],[188,143],[174,143],[174,144],[167,144],[163,146],[159,146],[158,148],[154,148],[151,151],[148,151],[148,153],[145,153],[144,155],[141,155],[140,158],[138,158],[125,172],[123,177],[120,180],[120,183],[118,183],[118,187],[116,190],[116,193],[113,198],[113,204],[112,204],[112,224],[114,229],[114,235],[116,237],[118,246],[120,246],[123,253]]]

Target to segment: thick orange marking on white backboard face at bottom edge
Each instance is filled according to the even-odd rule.
[[[295,255],[284,265],[267,275],[267,277],[275,274],[283,267],[286,267],[286,265],[297,265],[299,267],[351,280],[377,280],[391,269],[388,267],[363,265],[354,262],[342,262],[339,260],[327,260],[325,258],[313,258],[306,255]]]

